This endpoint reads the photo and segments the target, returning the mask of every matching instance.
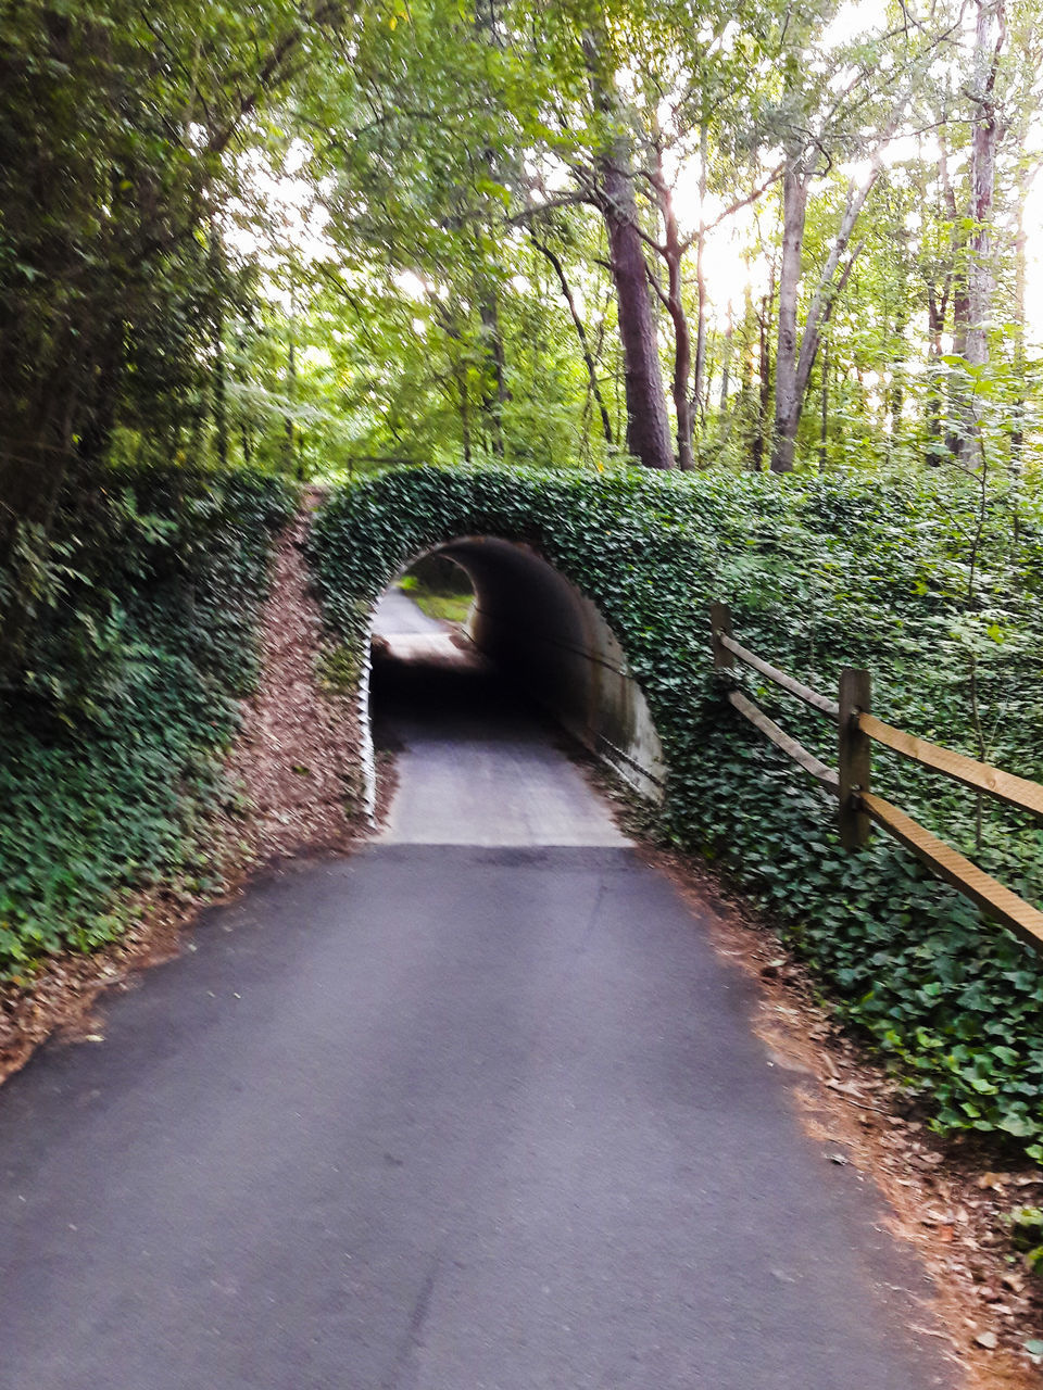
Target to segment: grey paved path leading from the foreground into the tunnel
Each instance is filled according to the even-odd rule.
[[[423,666],[375,680],[401,799],[421,735],[522,720],[547,776]],[[955,1390],[672,885],[445,821],[259,881],[0,1090],[3,1390]]]

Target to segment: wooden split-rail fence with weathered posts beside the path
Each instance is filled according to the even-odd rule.
[[[868,671],[843,671],[839,699],[833,701],[787,676],[786,671],[777,670],[737,642],[731,632],[731,614],[725,603],[711,606],[711,626],[713,664],[718,670],[733,670],[738,660],[837,724],[837,766],[829,767],[784,733],[741,691],[733,689],[727,696],[740,714],[837,798],[840,840],[847,849],[865,844],[871,821],[875,821],[918,855],[940,878],[976,902],[987,916],[1010,927],[1043,955],[1043,912],[990,878],[904,810],[871,791],[872,745],[882,744],[922,767],[930,767],[979,794],[1032,812],[1043,820],[1043,787],[1039,783],[1014,777],[1011,773],[1000,771],[998,767],[989,767],[987,763],[979,763],[973,758],[939,748],[884,724],[872,713]]]

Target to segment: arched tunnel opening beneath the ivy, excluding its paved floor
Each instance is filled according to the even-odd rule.
[[[641,796],[662,796],[662,748],[644,694],[620,642],[576,585],[531,546],[496,537],[467,535],[435,546],[410,560],[398,581],[420,560],[428,571],[438,562],[459,566],[473,599],[455,614],[455,634],[441,624],[441,644],[439,624],[416,609],[410,617],[402,594],[392,588],[381,602],[370,692],[378,737],[389,702],[434,702],[452,719],[453,737],[464,741],[469,720],[476,728],[488,721],[494,703],[509,719],[512,701],[520,698]],[[469,655],[481,671],[474,662],[462,671]]]

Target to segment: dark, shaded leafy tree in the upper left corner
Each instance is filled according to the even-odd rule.
[[[121,420],[161,435],[197,414],[229,293],[207,256],[229,156],[346,14],[339,0],[3,6],[0,666],[56,513]]]

